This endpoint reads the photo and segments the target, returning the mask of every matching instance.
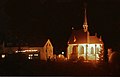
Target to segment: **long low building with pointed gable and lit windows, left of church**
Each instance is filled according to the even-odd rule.
[[[40,59],[47,60],[53,57],[53,46],[50,39],[43,39],[39,44],[29,44],[29,45],[6,45],[4,46],[4,53],[23,53],[28,59]]]

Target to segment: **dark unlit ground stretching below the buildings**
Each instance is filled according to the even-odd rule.
[[[113,66],[114,67],[114,66]],[[3,62],[0,63],[0,75],[21,76],[110,76],[120,75],[120,69],[106,63],[80,62]]]

